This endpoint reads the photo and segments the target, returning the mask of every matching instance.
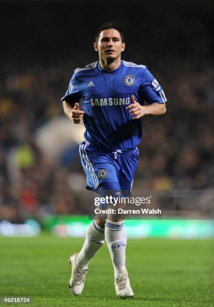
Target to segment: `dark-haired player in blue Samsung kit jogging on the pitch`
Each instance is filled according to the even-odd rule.
[[[76,124],[82,118],[85,141],[79,153],[86,173],[87,189],[130,191],[138,162],[136,146],[141,139],[140,118],[165,113],[166,98],[147,67],[121,61],[125,43],[113,22],[100,27],[93,44],[99,61],[77,68],[62,97],[64,113]],[[79,100],[83,97],[83,111]],[[144,106],[144,100],[148,105]],[[118,195],[118,193],[117,193]],[[69,287],[79,295],[84,286],[89,260],[106,240],[114,267],[115,291],[132,297],[125,268],[126,234],[123,219],[107,216],[89,225],[83,247],[69,259],[72,274]]]

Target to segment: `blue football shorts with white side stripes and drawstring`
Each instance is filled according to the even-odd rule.
[[[130,190],[138,163],[137,147],[103,149],[83,141],[79,145],[88,190]],[[111,184],[109,184],[111,183]]]

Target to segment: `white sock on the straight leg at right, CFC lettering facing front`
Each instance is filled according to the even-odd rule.
[[[125,246],[127,237],[123,222],[105,222],[105,240],[113,263],[114,278],[128,275],[125,268]]]

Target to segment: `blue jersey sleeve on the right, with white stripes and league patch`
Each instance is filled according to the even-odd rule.
[[[152,76],[147,67],[145,68],[145,72],[143,75],[143,81],[140,87],[140,94],[142,95],[142,98],[149,104],[153,102],[165,103],[167,101],[162,87]]]

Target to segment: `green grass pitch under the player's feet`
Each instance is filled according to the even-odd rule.
[[[31,296],[32,306],[214,305],[211,239],[128,240],[126,266],[133,299],[115,295],[106,244],[90,262],[81,296],[71,294],[68,257],[82,242],[50,234],[0,237],[0,296]]]

